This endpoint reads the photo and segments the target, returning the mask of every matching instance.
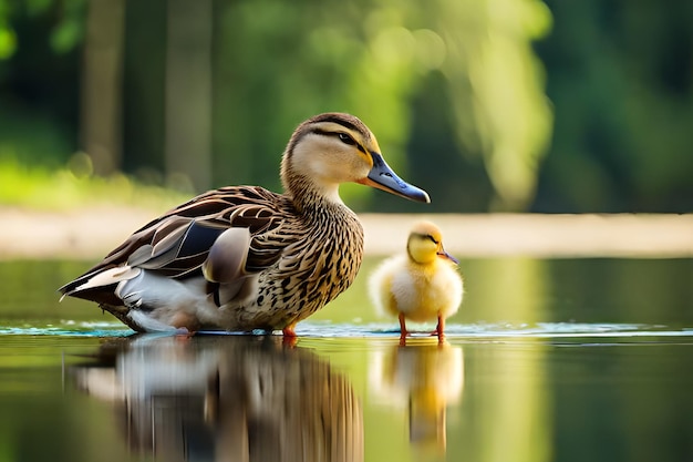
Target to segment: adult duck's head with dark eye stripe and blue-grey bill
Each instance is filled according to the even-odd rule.
[[[294,197],[313,191],[334,201],[341,183],[361,183],[416,202],[430,203],[425,191],[401,179],[385,163],[375,136],[358,117],[316,115],[293,132],[281,161],[281,179]]]

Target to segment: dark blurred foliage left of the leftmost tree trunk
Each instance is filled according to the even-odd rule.
[[[61,30],[83,22],[84,7],[85,0],[0,0],[1,160],[58,168],[79,150],[81,38],[70,41]],[[2,35],[11,37],[9,45]]]

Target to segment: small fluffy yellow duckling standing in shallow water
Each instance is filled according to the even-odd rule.
[[[444,338],[445,319],[459,309],[464,284],[459,261],[445,251],[437,225],[421,220],[413,225],[406,253],[384,260],[369,279],[369,294],[380,310],[400,320],[401,339],[410,335],[406,320],[437,320],[434,331]]]

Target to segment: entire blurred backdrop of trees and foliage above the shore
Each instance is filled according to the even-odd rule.
[[[345,111],[427,212],[691,212],[691,23],[685,0],[0,0],[0,168],[278,191],[292,129]]]

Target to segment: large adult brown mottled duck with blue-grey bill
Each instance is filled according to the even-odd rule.
[[[225,186],[135,230],[62,286],[135,331],[226,330],[296,337],[296,325],[353,283],[363,228],[339,186],[359,183],[420,203],[356,116],[330,112],[298,125],[281,157],[282,193]]]

